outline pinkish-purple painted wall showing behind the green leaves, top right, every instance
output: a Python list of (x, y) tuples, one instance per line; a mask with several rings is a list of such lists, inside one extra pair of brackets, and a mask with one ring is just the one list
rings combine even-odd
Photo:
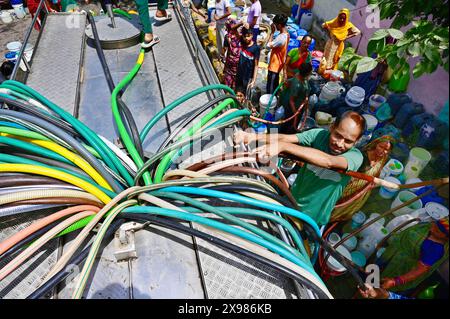
[[(360, 41), (358, 52), (362, 55), (367, 53), (367, 43), (372, 34), (377, 31), (377, 29), (369, 29), (367, 27), (366, 20), (369, 14), (366, 13), (366, 5), (367, 0), (358, 0), (357, 10), (353, 11), (351, 16), (351, 21), (362, 32), (361, 39), (356, 37), (351, 39), (351, 43), (356, 48)], [(390, 21), (381, 21), (380, 27), (389, 28)], [(407, 30), (407, 28), (405, 29)], [(414, 79), (411, 73), (408, 93), (413, 97), (414, 101), (422, 103), (429, 113), (436, 115), (449, 99), (449, 74), (444, 69), (439, 68), (433, 74), (426, 74), (419, 79)]]

